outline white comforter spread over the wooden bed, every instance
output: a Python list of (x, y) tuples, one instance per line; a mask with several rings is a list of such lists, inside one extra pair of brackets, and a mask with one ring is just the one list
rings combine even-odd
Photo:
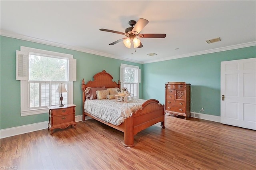
[(127, 103), (116, 102), (115, 99), (86, 100), (84, 111), (113, 125), (120, 125), (124, 119), (130, 117), (133, 112), (140, 109), (146, 100), (134, 99)]

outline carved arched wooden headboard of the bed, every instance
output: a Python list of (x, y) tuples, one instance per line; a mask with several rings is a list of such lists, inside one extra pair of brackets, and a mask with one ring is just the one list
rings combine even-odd
[(103, 87), (106, 88), (114, 88), (118, 87), (120, 89), (120, 81), (118, 80), (118, 83), (116, 81), (113, 81), (112, 75), (107, 73), (105, 70), (102, 72), (99, 72), (93, 76), (93, 81), (88, 81), (86, 84), (84, 83), (84, 79), (82, 79), (82, 91), (83, 91), (83, 102), (85, 101), (85, 89), (87, 87)]

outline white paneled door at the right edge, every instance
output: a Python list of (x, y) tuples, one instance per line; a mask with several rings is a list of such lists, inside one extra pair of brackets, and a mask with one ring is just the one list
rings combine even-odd
[(220, 64), (220, 123), (256, 130), (256, 58)]

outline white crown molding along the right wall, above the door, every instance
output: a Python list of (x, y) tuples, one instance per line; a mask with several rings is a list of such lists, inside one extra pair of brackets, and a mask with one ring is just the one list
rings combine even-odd
[(227, 47), (220, 47), (220, 48), (209, 49), (209, 50), (205, 50), (205, 51), (198, 51), (198, 52), (195, 52), (195, 53), (187, 53), (187, 54), (183, 54), (183, 55), (176, 55), (176, 56), (172, 56), (172, 57), (165, 57), (165, 58), (157, 59), (157, 60), (144, 61), (142, 63), (143, 64), (155, 63), (155, 62), (166, 61), (166, 60), (170, 60), (170, 59), (192, 57), (192, 56), (196, 56), (196, 55), (216, 53), (216, 52), (220, 52), (220, 51), (228, 51), (228, 50), (231, 50), (231, 49), (239, 49), (239, 48), (244, 48), (244, 47), (252, 47), (252, 46), (255, 46), (255, 45), (256, 45), (256, 42), (241, 43), (241, 44), (237, 44), (237, 45), (230, 45), (230, 46), (227, 46)]

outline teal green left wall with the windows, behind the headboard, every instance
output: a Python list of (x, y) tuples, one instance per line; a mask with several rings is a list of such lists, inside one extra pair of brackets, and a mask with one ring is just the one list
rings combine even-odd
[[(77, 59), (77, 81), (74, 82), (74, 104), (76, 105), (76, 115), (82, 114), (82, 78), (87, 82), (92, 80), (94, 74), (106, 70), (114, 77), (113, 80), (118, 82), (121, 63), (142, 67), (142, 64), (138, 63), (18, 40), (15, 38), (8, 38), (5, 36), (0, 36), (0, 45), (0, 129), (48, 121), (47, 113), (23, 117), (20, 116), (20, 81), (16, 80), (16, 50), (20, 50), (20, 46), (74, 55), (74, 58)], [(140, 86), (140, 96), (142, 96), (142, 86)]]

